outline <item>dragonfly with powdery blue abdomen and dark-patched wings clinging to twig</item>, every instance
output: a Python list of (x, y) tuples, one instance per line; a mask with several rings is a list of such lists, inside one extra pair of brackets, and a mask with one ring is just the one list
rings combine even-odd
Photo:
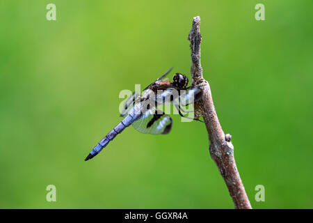
[[(120, 111), (120, 116), (124, 119), (99, 141), (85, 158), (85, 161), (99, 154), (110, 141), (125, 130), (125, 128), (129, 127), (129, 125), (132, 125), (138, 132), (145, 134), (168, 134), (172, 129), (172, 118), (159, 110), (158, 105), (173, 102), (180, 116), (191, 118), (182, 114), (182, 112), (185, 111), (182, 109), (181, 105), (190, 105), (192, 102), (200, 100), (202, 90), (196, 87), (187, 87), (188, 78), (186, 75), (182, 75), (179, 72), (172, 77), (172, 82), (170, 82), (166, 76), (171, 70), (172, 68), (149, 84), (143, 90), (143, 93), (135, 91), (127, 98), (122, 107), (122, 111)], [(182, 91), (183, 93), (181, 93)], [(181, 97), (183, 97), (184, 103), (182, 103)], [(179, 98), (178, 102), (177, 98)], [(204, 122), (198, 118), (191, 119)]]

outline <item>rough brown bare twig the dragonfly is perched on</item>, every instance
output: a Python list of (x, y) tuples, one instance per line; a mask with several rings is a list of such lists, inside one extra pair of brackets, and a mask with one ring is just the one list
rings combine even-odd
[(232, 146), (231, 135), (224, 134), (218, 121), (214, 103), (212, 100), (209, 83), (202, 77), (200, 63), (200, 17), (193, 18), (193, 25), (188, 35), (191, 49), (191, 77), (192, 85), (203, 90), (202, 100), (195, 103), (195, 116), (203, 116), (209, 135), (209, 152), (216, 163), (220, 175), (225, 180), (230, 196), (234, 201), (234, 207), (239, 209), (250, 209), (250, 201), (239, 176), (234, 160), (234, 146)]

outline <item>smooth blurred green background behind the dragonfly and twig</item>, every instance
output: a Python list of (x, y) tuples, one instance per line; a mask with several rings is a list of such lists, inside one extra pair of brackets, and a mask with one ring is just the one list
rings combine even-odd
[[(56, 21), (46, 20), (47, 3)], [(266, 21), (255, 20), (264, 3)], [(128, 128), (122, 89), (202, 67), (253, 208), (313, 208), (312, 0), (0, 1), (0, 208), (233, 208), (204, 124)], [(46, 201), (56, 185), (56, 202)], [(265, 201), (255, 201), (264, 185)]]

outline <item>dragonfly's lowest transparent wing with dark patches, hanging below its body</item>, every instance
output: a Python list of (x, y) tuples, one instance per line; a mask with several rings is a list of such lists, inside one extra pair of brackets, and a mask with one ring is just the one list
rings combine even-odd
[(160, 110), (150, 109), (132, 125), (141, 133), (168, 134), (172, 129), (172, 118)]

